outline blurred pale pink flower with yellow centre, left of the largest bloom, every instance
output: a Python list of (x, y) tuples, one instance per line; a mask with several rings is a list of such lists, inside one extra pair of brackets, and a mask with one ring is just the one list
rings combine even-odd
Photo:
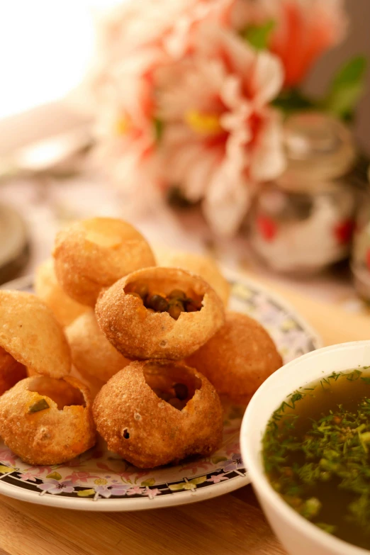
[(159, 182), (152, 71), (162, 52), (142, 49), (109, 67), (95, 83), (97, 159), (123, 193), (155, 194)]

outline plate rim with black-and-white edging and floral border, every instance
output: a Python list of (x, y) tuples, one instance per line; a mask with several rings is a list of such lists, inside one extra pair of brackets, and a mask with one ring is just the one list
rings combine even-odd
[[(304, 332), (310, 345), (305, 352), (323, 346), (318, 333), (284, 298), (270, 291), (269, 288), (261, 286), (257, 281), (241, 276), (237, 271), (224, 269), (224, 274), (232, 284), (233, 298), (237, 301), (248, 305), (252, 302), (248, 298), (249, 295), (250, 298), (258, 295), (266, 298), (267, 304), (270, 303), (271, 307), (280, 310), (291, 323), (296, 325), (297, 330)], [(30, 290), (32, 284), (32, 276), (26, 276), (4, 284), (0, 288)], [(253, 316), (253, 313), (251, 315)], [(176, 481), (153, 484), (151, 479), (148, 479), (141, 482), (139, 486), (137, 483), (108, 483), (104, 478), (97, 478), (94, 481), (94, 487), (91, 487), (91, 485), (78, 484), (78, 479), (77, 482), (74, 481), (74, 477), (78, 478), (79, 474), (84, 474), (83, 472), (72, 472), (71, 476), (68, 476), (69, 479), (64, 480), (57, 468), (50, 468), (46, 477), (38, 478), (37, 473), (29, 473), (30, 476), (28, 476), (27, 471), (17, 467), (16, 463), (9, 463), (9, 459), (4, 460), (2, 453), (7, 448), (1, 451), (1, 447), (5, 447), (4, 444), (0, 443), (0, 494), (59, 508), (97, 511), (164, 508), (211, 499), (250, 483), (240, 452), (236, 452), (237, 450), (230, 454), (229, 460), (227, 456), (219, 457), (220, 463), (217, 468), (210, 471), (203, 470), (201, 473), (195, 473), (187, 478), (181, 477)], [(218, 457), (216, 456), (215, 459)], [(25, 479), (26, 475), (28, 477)], [(98, 500), (99, 503), (96, 503)]]

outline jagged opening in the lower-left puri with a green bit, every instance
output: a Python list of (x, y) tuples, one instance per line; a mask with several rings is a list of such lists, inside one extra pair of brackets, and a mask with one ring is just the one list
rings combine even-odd
[(37, 376), (30, 382), (28, 391), (50, 398), (57, 403), (59, 410), (71, 405), (86, 406), (81, 391), (64, 380), (48, 378), (47, 376)]

